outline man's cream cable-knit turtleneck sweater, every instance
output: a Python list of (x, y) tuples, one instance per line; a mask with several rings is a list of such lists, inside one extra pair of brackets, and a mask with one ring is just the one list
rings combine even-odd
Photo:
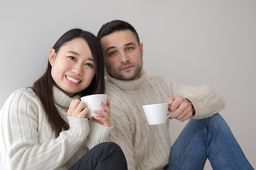
[(164, 103), (168, 97), (183, 96), (193, 104), (196, 115), (206, 118), (224, 108), (222, 96), (209, 86), (183, 86), (166, 77), (146, 77), (122, 81), (105, 73), (110, 97), (112, 125), (107, 140), (116, 142), (124, 151), (129, 169), (163, 169), (169, 164), (171, 141), (169, 123), (149, 125), (142, 105)]

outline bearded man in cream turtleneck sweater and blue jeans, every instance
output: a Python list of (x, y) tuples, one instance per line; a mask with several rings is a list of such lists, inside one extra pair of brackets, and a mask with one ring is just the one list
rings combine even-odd
[[(129, 169), (252, 169), (218, 114), (223, 97), (210, 86), (190, 87), (166, 77), (147, 77), (143, 45), (127, 22), (111, 21), (98, 35), (105, 57), (107, 94), (114, 128), (108, 140), (124, 151)], [(191, 119), (171, 146), (169, 122), (148, 125), (142, 106), (169, 103), (169, 117)]]

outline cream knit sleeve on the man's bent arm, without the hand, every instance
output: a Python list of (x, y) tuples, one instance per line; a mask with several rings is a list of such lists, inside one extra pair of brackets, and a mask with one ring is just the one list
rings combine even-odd
[(186, 86), (166, 78), (165, 81), (170, 97), (182, 96), (191, 101), (196, 111), (194, 119), (207, 118), (225, 107), (223, 96), (210, 86)]

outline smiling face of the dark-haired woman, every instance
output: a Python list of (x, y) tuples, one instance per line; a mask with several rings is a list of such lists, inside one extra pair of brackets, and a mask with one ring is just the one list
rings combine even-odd
[(51, 49), (49, 61), (55, 84), (70, 97), (86, 89), (95, 76), (95, 60), (87, 42), (82, 38), (65, 42), (58, 54)]

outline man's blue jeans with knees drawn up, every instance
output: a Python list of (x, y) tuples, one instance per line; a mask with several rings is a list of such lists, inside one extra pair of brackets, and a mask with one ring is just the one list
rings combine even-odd
[(218, 113), (189, 120), (171, 147), (170, 161), (164, 169), (203, 169), (207, 158), (213, 169), (253, 169)]

